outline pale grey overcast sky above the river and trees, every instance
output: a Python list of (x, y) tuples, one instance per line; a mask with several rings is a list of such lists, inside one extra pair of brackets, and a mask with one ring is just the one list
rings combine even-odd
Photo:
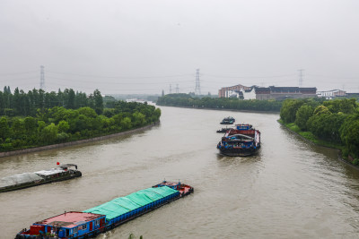
[(359, 92), (357, 0), (1, 0), (0, 90)]

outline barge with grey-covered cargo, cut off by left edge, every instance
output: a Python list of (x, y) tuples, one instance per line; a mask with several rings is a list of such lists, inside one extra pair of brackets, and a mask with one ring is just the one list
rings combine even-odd
[(81, 175), (82, 173), (77, 170), (76, 165), (64, 164), (34, 173), (6, 176), (0, 179), (0, 192), (9, 192), (41, 184), (50, 184), (79, 177)]

